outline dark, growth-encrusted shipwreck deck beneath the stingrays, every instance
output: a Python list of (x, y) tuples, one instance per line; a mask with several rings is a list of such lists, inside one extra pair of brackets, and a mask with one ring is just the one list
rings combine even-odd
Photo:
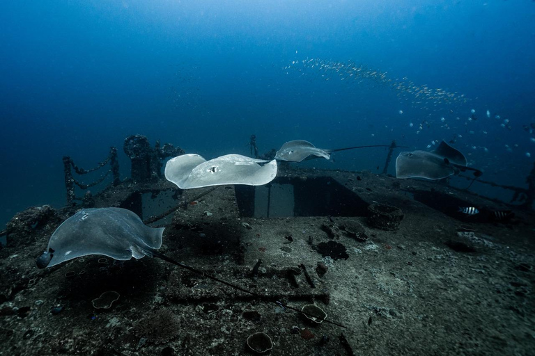
[[(532, 355), (532, 213), (506, 221), (485, 211), (456, 215), (458, 202), (504, 207), (369, 172), (357, 179), (300, 170), (277, 179), (297, 182), (296, 199), (300, 181), (316, 181), (355, 201), (323, 216), (254, 218), (243, 214), (234, 186), (184, 191), (160, 250), (261, 298), (150, 257), (86, 256), (39, 270), (36, 257), (76, 208), (12, 220), (0, 250), (0, 355), (248, 355), (256, 332), (271, 338), (270, 355)], [(112, 187), (95, 196), (96, 207), (124, 204), (137, 188)], [(318, 204), (319, 191), (308, 194), (295, 211)], [(370, 204), (401, 209), (398, 228), (370, 225)], [(314, 304), (327, 321), (277, 301), (299, 310)]]

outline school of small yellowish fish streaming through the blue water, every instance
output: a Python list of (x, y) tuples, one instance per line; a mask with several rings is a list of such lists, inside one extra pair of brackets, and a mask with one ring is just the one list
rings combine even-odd
[[(459, 131), (467, 133), (468, 136), (465, 138), (465, 141), (470, 140), (470, 137), (487, 136), (487, 129), (481, 128), (483, 125), (483, 127), (497, 126), (507, 131), (513, 129), (509, 118), (502, 119), (501, 115), (498, 114), (494, 114), (493, 116), (490, 108), (483, 109), (482, 112), (484, 114), (481, 115), (481, 118), (484, 118), (484, 120), (481, 120), (485, 122), (481, 122), (478, 117), (478, 112), (481, 112), (479, 109), (470, 108), (470, 111), (467, 112), (466, 106), (469, 105), (472, 100), (467, 98), (464, 94), (460, 94), (459, 92), (449, 92), (442, 88), (430, 88), (425, 84), (419, 85), (410, 81), (406, 76), (401, 79), (393, 79), (387, 72), (374, 70), (355, 62), (346, 63), (334, 60), (323, 60), (320, 58), (307, 58), (304, 60), (293, 60), (283, 69), (286, 71), (286, 74), (289, 74), (290, 71), (297, 71), (302, 76), (316, 75), (325, 81), (334, 79), (346, 83), (372, 81), (374, 83), (388, 86), (397, 92), (396, 95), (403, 105), (408, 104), (412, 109), (417, 108), (424, 111), (426, 119), (417, 120), (417, 122), (414, 122), (414, 120), (407, 122), (408, 127), (414, 129), (414, 133), (419, 134), (426, 129), (437, 127), (440, 128), (440, 130), (451, 130), (456, 132), (453, 134), (453, 138), (449, 140), (449, 143), (451, 144), (454, 144), (458, 139), (463, 138), (463, 136), (458, 133)], [(398, 109), (397, 113), (401, 118), (407, 115), (403, 108)], [(447, 115), (444, 115), (444, 113), (447, 113)], [(479, 124), (475, 124), (476, 122)], [(529, 143), (535, 143), (535, 123), (523, 125), (522, 129), (529, 134)], [(393, 131), (393, 129), (390, 129), (390, 131)], [(436, 131), (433, 131), (431, 134), (437, 135)], [(372, 133), (371, 136), (375, 136), (375, 134)], [(440, 142), (440, 140), (442, 140), (442, 138), (435, 137), (426, 147), (430, 149), (435, 143)], [(466, 142), (465, 145), (467, 148), (472, 149), (472, 151), (489, 152), (486, 145), (474, 145)], [(526, 145), (522, 145), (522, 147), (526, 147)], [(518, 143), (504, 143), (503, 147), (505, 152), (514, 153), (519, 151), (520, 145)], [(535, 149), (535, 147), (533, 147), (533, 149)], [(468, 155), (470, 156), (470, 153)], [(530, 158), (532, 154), (527, 150), (522, 153), (522, 156)]]

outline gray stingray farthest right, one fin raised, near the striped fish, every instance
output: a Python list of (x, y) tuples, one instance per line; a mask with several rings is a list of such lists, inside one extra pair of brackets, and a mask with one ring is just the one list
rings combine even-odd
[(474, 177), (483, 174), (481, 170), (467, 167), (465, 155), (444, 141), (431, 152), (401, 152), (396, 159), (396, 178), (402, 179), (442, 179), (466, 170), (474, 171)]

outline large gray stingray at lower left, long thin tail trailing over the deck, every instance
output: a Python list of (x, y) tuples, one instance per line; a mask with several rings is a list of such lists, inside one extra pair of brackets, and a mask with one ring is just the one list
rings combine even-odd
[[(249, 293), (256, 298), (260, 294), (244, 289), (236, 284), (220, 280), (217, 277), (175, 261), (157, 250), (162, 246), (164, 228), (144, 225), (143, 221), (132, 211), (121, 208), (83, 209), (65, 220), (50, 237), (47, 250), (38, 257), (38, 268), (52, 267), (62, 262), (88, 254), (103, 254), (118, 260), (144, 256), (159, 257), (171, 264), (185, 268), (210, 280), (230, 286), (233, 289)], [(300, 312), (283, 302), (270, 300), (277, 305)], [(345, 327), (333, 321), (334, 325)]]

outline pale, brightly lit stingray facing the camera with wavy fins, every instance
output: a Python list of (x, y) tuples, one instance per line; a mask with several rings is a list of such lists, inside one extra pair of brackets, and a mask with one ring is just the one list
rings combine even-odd
[[(265, 163), (259, 165), (258, 163)], [(182, 154), (167, 161), (165, 177), (181, 189), (245, 184), (261, 186), (277, 176), (277, 161), (227, 154), (206, 161), (199, 154)]]

